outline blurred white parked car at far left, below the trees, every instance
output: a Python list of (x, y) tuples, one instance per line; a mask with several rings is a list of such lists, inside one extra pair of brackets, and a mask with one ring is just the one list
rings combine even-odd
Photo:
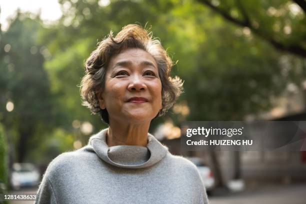
[(39, 183), (38, 169), (31, 163), (14, 163), (11, 173), (11, 186), (13, 189), (20, 187), (36, 186)]

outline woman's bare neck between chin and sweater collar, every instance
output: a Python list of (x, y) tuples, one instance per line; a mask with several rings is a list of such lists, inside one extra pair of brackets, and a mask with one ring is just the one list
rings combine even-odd
[(126, 122), (109, 121), (106, 143), (108, 146), (146, 146), (149, 125), (149, 122), (141, 124), (130, 124)]

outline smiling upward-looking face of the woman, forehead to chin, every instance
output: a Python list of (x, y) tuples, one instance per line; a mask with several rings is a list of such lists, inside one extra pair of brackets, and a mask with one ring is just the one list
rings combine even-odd
[(139, 48), (128, 48), (111, 57), (105, 89), (98, 94), (109, 122), (149, 122), (161, 109), (161, 82), (155, 59)]

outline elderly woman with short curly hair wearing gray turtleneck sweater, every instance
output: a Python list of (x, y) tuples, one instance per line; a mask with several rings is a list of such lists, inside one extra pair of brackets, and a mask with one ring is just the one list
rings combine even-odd
[(50, 162), (35, 203), (208, 203), (196, 166), (148, 133), (182, 91), (171, 66), (160, 42), (135, 24), (98, 43), (80, 92), (108, 128)]

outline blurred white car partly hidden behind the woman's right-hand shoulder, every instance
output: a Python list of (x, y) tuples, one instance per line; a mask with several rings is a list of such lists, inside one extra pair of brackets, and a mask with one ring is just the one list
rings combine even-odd
[(199, 173), (200, 173), (200, 176), (202, 177), (202, 181), (203, 181), (203, 184), (206, 188), (206, 191), (208, 193), (211, 193), (213, 188), (214, 188), (214, 176), (213, 176), (213, 172), (212, 170), (210, 169), (209, 166), (207, 166), (201, 158), (199, 157), (186, 157), (187, 159), (189, 159), (190, 161), (192, 161)]

